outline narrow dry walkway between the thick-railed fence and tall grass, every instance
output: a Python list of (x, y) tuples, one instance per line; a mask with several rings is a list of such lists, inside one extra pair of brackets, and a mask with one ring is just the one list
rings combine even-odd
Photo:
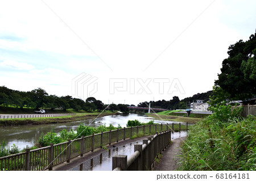
[(177, 155), (180, 153), (180, 146), (185, 140), (185, 137), (176, 138), (172, 140), (172, 144), (169, 145), (166, 150), (163, 151), (162, 159), (160, 163), (154, 163), (154, 170), (157, 171), (171, 171), (177, 170), (177, 163), (179, 162), (179, 157)]

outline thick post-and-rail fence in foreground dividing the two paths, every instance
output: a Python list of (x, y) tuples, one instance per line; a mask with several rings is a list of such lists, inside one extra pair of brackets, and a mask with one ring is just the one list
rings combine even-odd
[(127, 155), (112, 157), (112, 170), (151, 170), (154, 159), (170, 144), (170, 141), (171, 130), (156, 133), (147, 140), (143, 140), (143, 144), (134, 145), (134, 153), (129, 158)]

